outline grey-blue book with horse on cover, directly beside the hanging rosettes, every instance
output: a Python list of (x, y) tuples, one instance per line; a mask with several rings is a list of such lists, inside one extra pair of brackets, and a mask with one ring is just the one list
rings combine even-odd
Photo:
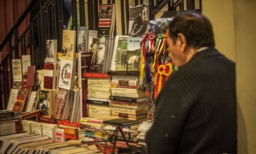
[(129, 37), (126, 56), (126, 71), (140, 71), (140, 41), (142, 38)]

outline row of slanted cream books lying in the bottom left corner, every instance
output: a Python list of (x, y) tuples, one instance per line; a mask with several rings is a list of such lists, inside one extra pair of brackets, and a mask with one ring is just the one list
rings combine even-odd
[(21, 132), (0, 136), (0, 153), (97, 153), (95, 145), (53, 142), (48, 136)]

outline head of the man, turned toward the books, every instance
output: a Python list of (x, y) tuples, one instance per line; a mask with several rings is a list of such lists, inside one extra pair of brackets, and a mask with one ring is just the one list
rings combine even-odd
[(215, 47), (210, 21), (194, 11), (176, 15), (169, 24), (168, 46), (177, 67), (189, 62), (201, 47)]

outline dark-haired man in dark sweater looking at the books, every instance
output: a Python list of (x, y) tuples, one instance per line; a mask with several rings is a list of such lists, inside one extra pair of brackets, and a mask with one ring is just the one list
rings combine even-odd
[(214, 48), (211, 23), (203, 15), (178, 14), (168, 34), (169, 55), (178, 70), (156, 100), (147, 152), (236, 153), (234, 63)]

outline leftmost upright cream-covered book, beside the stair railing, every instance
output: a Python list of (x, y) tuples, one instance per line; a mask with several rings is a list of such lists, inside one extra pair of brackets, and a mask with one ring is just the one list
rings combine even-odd
[(21, 59), (12, 59), (12, 76), (14, 81), (22, 81), (22, 63)]

